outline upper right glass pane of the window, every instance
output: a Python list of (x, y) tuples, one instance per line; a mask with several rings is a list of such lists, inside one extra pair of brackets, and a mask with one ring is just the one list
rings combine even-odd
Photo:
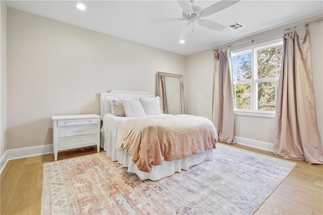
[(276, 78), (277, 47), (257, 51), (258, 78)]

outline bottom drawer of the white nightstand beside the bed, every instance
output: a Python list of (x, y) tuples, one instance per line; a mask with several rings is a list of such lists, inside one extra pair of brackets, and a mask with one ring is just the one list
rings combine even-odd
[(97, 135), (86, 135), (86, 136), (79, 136), (79, 137), (67, 137), (58, 139), (59, 148), (67, 148), (71, 146), (82, 146), (86, 144), (95, 144), (97, 142)]

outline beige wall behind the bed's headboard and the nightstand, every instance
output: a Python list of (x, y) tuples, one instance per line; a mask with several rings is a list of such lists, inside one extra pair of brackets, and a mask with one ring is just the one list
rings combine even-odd
[(52, 115), (99, 114), (99, 92), (155, 94), (185, 57), (8, 8), (8, 149), (52, 143)]

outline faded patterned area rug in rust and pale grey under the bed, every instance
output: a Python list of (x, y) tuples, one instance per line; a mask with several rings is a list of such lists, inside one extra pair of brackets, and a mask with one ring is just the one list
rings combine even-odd
[(41, 214), (252, 214), (296, 165), (217, 147), (212, 161), (158, 181), (104, 152), (44, 164)]

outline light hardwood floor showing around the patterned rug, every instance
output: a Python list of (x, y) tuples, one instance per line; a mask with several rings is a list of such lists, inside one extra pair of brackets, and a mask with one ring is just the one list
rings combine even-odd
[[(269, 156), (263, 151), (232, 145)], [(96, 149), (59, 152), (58, 159), (96, 153)], [(53, 162), (53, 154), (10, 160), (1, 174), (1, 214), (39, 214), (42, 165)], [(323, 166), (294, 161), (297, 166), (255, 214), (323, 214)]]

